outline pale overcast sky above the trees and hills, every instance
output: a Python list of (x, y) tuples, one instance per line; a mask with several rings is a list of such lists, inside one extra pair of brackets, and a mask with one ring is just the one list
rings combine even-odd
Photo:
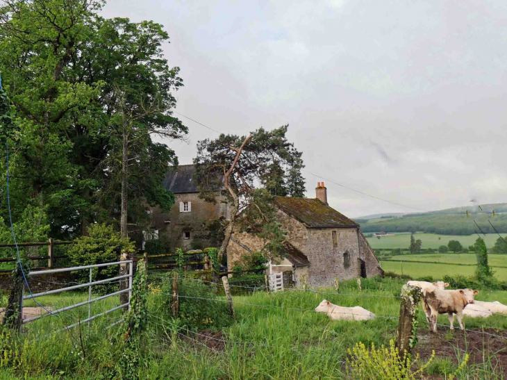
[(507, 201), (507, 1), (109, 0), (102, 13), (169, 33), (181, 164), (217, 137), (181, 115), (238, 135), (289, 124), (307, 197), (324, 181), (349, 217)]

